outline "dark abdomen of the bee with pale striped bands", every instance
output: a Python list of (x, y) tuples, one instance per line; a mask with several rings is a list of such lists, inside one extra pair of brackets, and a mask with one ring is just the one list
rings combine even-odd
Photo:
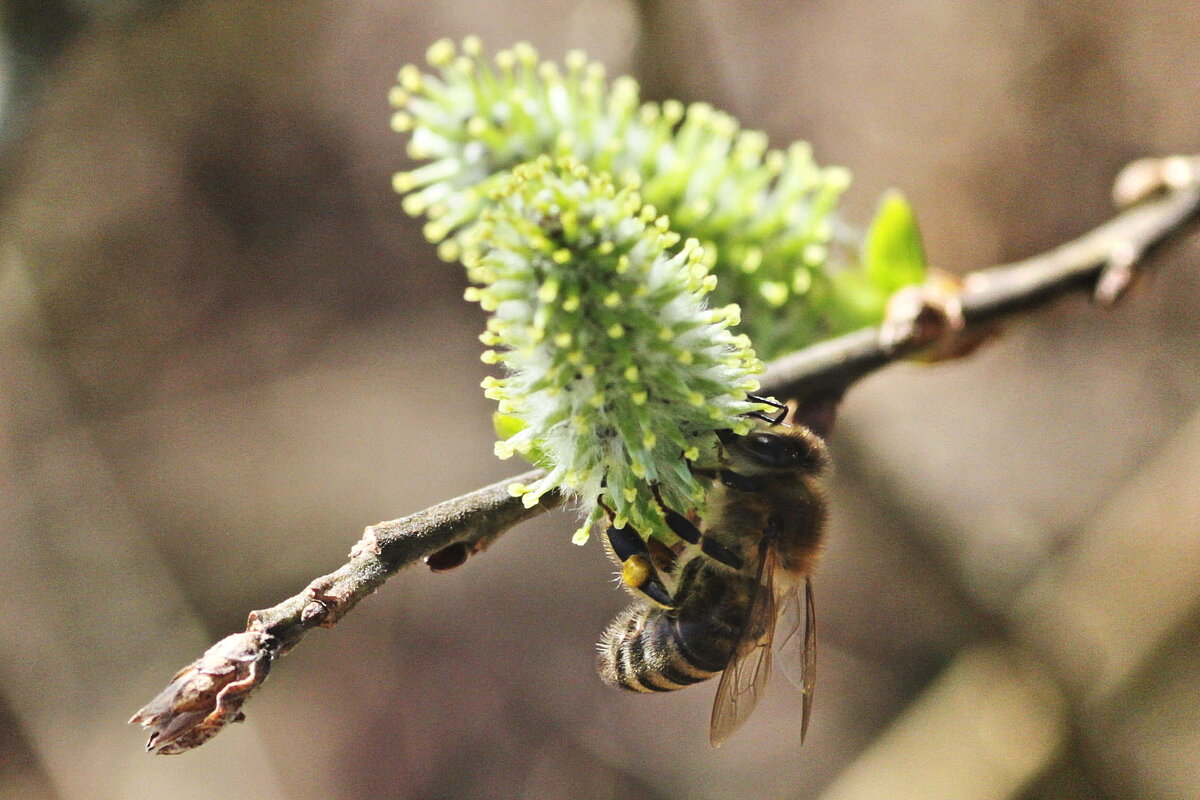
[(667, 692), (725, 669), (750, 607), (754, 579), (697, 555), (680, 570), (673, 610), (635, 603), (600, 640), (600, 676), (636, 692)]

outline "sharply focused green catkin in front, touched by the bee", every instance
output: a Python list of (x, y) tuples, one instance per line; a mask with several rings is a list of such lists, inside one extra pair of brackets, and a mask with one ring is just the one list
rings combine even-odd
[(762, 365), (730, 331), (736, 312), (706, 309), (703, 248), (676, 246), (632, 187), (571, 160), (517, 167), (492, 201), (462, 241), (481, 284), (467, 297), (500, 343), (485, 360), (505, 368), (485, 390), (523, 425), (497, 455), (536, 449), (548, 467), (514, 493), (533, 505), (564, 488), (589, 523), (602, 498), (618, 524), (670, 539), (650, 483), (692, 507), (702, 492), (682, 453), (712, 453), (715, 431), (745, 432), (762, 408), (746, 397)]

